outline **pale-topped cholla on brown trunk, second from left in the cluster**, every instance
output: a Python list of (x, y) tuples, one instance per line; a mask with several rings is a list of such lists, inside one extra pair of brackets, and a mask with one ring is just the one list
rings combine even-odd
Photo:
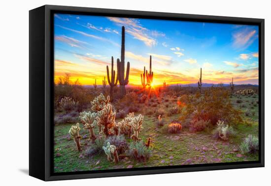
[(83, 121), (83, 123), (85, 124), (84, 129), (89, 130), (90, 139), (92, 140), (92, 142), (95, 142), (95, 139), (96, 139), (96, 135), (94, 132), (94, 127), (97, 125), (96, 117), (97, 117), (97, 113), (91, 113), (91, 112), (85, 113), (83, 117), (79, 116), (81, 121)]

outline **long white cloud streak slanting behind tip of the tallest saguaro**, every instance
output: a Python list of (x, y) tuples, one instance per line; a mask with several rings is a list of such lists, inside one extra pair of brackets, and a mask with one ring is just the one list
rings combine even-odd
[(125, 30), (128, 34), (134, 36), (135, 39), (143, 41), (145, 45), (149, 47), (157, 45), (157, 41), (147, 34), (148, 30), (142, 27), (137, 19), (117, 17), (108, 17), (108, 19), (120, 26), (125, 26)]

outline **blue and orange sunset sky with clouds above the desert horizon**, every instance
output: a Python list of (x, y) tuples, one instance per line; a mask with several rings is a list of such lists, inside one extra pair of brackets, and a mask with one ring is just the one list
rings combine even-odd
[[(82, 85), (102, 85), (111, 56), (120, 58), (125, 26), (129, 84), (141, 85), (152, 55), (154, 84), (258, 84), (258, 27), (216, 23), (55, 14), (55, 79), (69, 73)], [(110, 72), (111, 73), (111, 72)], [(106, 77), (107, 78), (107, 77)], [(106, 79), (107, 80), (107, 79)]]

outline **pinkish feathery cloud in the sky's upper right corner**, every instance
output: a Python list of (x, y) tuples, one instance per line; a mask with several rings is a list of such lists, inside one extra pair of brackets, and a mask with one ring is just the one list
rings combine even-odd
[(246, 49), (257, 37), (258, 35), (256, 30), (248, 28), (242, 29), (241, 31), (237, 31), (233, 34), (233, 46), (239, 49)]

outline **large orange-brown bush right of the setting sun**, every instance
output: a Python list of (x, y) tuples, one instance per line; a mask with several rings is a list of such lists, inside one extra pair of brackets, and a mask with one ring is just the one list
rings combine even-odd
[(218, 120), (229, 124), (242, 122), (242, 111), (234, 108), (228, 91), (221, 87), (212, 87), (206, 90), (203, 96), (200, 93), (183, 95), (177, 103), (183, 111), (180, 118), (182, 121), (188, 118), (196, 121), (209, 120), (213, 125)]

